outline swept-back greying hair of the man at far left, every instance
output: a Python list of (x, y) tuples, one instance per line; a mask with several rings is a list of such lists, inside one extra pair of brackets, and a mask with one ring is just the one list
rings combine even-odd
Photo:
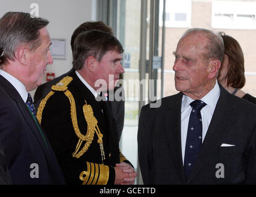
[(15, 50), (28, 44), (35, 50), (41, 44), (39, 30), (48, 25), (48, 20), (31, 17), (25, 12), (7, 12), (0, 18), (0, 47), (4, 49), (2, 63), (14, 60)]

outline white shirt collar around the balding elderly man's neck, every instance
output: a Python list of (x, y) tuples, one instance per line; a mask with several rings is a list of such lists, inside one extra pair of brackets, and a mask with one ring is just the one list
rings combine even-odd
[[(220, 86), (216, 80), (215, 86), (213, 87), (213, 89), (210, 90), (210, 92), (208, 92), (207, 95), (205, 95), (202, 99), (203, 102), (207, 103), (207, 105), (209, 105), (210, 107), (215, 107), (216, 104), (216, 100), (218, 100), (220, 96)], [(187, 108), (188, 105), (193, 102), (194, 99), (190, 98), (187, 95), (183, 95), (182, 97), (182, 108)]]

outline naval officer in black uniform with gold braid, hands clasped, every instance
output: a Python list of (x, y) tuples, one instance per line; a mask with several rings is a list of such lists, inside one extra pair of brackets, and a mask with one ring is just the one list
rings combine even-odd
[(136, 172), (119, 150), (109, 102), (98, 99), (101, 90), (114, 89), (124, 73), (122, 52), (120, 42), (109, 33), (79, 34), (74, 71), (53, 86), (38, 107), (36, 118), (67, 183), (134, 184)]

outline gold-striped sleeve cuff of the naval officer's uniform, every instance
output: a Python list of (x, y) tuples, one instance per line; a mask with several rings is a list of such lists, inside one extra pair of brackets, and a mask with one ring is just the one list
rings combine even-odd
[(87, 171), (82, 171), (79, 178), (83, 181), (82, 185), (106, 185), (109, 179), (109, 167), (87, 162)]

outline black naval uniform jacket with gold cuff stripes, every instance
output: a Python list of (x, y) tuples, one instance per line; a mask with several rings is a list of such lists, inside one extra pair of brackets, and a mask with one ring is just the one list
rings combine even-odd
[[(74, 131), (70, 116), (70, 101), (64, 91), (54, 90), (54, 94), (46, 101), (43, 111), (41, 111), (41, 103), (44, 102), (42, 100), (36, 116), (38, 117), (38, 114), (41, 113), (41, 126), (53, 147), (67, 184), (113, 184), (115, 179), (113, 167), (115, 164), (122, 161), (129, 163), (129, 161), (119, 151), (116, 126), (111, 110), (109, 110), (109, 103), (101, 102), (105, 106), (101, 107), (100, 102), (95, 100), (92, 92), (80, 81), (75, 71), (72, 71), (69, 76), (72, 81), (67, 85), (67, 89), (75, 100), (77, 124), (81, 134), (87, 134), (87, 121), (85, 121), (83, 114), (85, 101), (87, 105), (91, 105), (93, 115), (98, 121), (98, 128), (103, 134), (104, 165), (102, 165), (96, 132), (88, 150), (80, 158), (72, 156), (79, 142), (79, 137)], [(84, 145), (85, 142), (82, 143), (80, 149)]]

